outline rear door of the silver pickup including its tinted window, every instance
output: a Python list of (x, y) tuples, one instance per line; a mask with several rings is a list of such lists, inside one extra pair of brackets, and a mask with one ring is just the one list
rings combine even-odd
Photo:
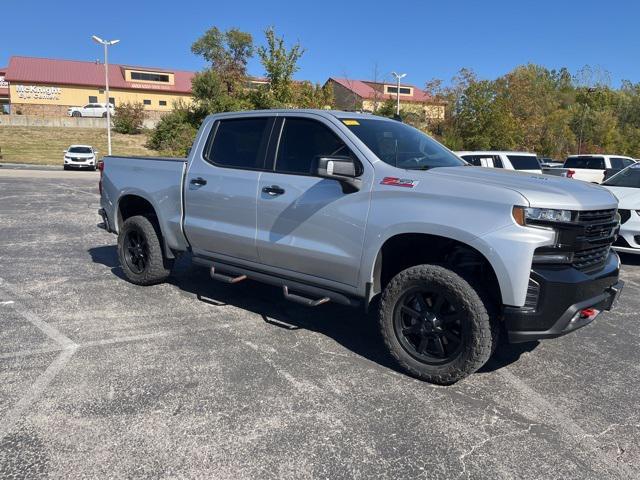
[(217, 121), (185, 178), (185, 233), (193, 252), (256, 261), (258, 179), (272, 116)]

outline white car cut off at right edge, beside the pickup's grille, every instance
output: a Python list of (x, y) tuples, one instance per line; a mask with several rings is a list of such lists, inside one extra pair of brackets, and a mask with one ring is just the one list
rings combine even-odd
[(613, 248), (640, 254), (640, 163), (618, 172), (602, 186), (618, 197), (620, 233)]

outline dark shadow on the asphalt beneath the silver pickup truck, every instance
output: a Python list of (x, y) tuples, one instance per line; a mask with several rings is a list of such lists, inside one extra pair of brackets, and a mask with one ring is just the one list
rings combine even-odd
[[(94, 263), (109, 267), (115, 276), (126, 281), (115, 245), (94, 247), (88, 252)], [(363, 309), (331, 303), (316, 308), (303, 307), (286, 301), (281, 289), (251, 280), (236, 285), (219, 283), (211, 280), (207, 269), (193, 265), (189, 255), (176, 261), (167, 283), (192, 294), (194, 301), (204, 302), (212, 309), (232, 305), (260, 315), (264, 322), (274, 328), (317, 332), (332, 338), (356, 355), (401, 372), (385, 351), (378, 332), (377, 317), (373, 312), (367, 314)], [(479, 372), (492, 372), (507, 366), (536, 345), (503, 344)]]

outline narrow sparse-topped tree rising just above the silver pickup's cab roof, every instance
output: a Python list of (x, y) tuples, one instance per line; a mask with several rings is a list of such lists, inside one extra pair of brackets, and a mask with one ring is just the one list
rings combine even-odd
[(294, 100), (293, 74), (298, 71), (298, 60), (304, 49), (296, 43), (287, 49), (284, 37), (277, 37), (273, 27), (264, 32), (267, 45), (258, 47), (258, 56), (269, 79), (268, 90), (275, 103), (290, 106)]

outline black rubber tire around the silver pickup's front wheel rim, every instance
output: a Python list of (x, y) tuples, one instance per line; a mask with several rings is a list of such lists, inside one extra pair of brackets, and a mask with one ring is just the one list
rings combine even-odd
[[(403, 347), (394, 329), (401, 298), (417, 286), (445, 292), (460, 309), (461, 321), (466, 322), (461, 351), (447, 363), (432, 365), (418, 360)], [(450, 385), (474, 373), (489, 360), (498, 340), (497, 319), (490, 315), (493, 309), (481, 298), (468, 281), (450, 269), (418, 265), (403, 270), (391, 279), (380, 299), (379, 327), (389, 353), (410, 375), (439, 385)]]

